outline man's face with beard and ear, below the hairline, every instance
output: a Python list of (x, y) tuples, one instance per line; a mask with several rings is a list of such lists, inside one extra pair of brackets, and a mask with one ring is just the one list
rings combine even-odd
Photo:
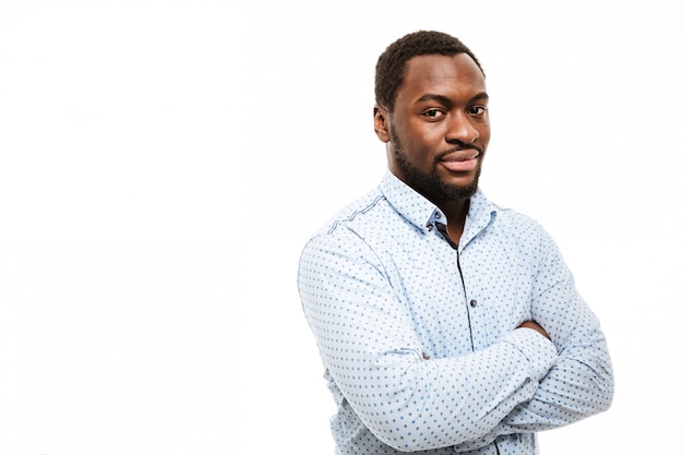
[(491, 135), (488, 99), (468, 55), (410, 59), (394, 111), (375, 107), (390, 170), (435, 204), (470, 197)]

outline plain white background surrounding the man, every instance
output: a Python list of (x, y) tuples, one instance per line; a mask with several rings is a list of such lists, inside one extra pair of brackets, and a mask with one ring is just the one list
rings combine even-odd
[(544, 454), (672, 453), (683, 409), (676, 1), (0, 3), (0, 454), (332, 454), (296, 288), (376, 184), (374, 62), (481, 60), (482, 188), (602, 321), (611, 410)]

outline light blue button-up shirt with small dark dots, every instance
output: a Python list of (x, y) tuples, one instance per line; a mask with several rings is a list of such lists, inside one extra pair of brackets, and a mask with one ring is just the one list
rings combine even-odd
[(481, 192), (457, 248), (444, 225), (387, 172), (303, 249), (337, 454), (534, 454), (535, 432), (611, 405), (604, 336), (548, 234)]

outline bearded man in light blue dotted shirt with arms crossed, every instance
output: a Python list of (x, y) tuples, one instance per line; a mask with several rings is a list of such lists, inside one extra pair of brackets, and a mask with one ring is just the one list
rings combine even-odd
[(299, 268), (336, 453), (534, 454), (535, 432), (611, 405), (599, 322), (543, 229), (478, 189), (490, 125), (474, 53), (409, 34), (380, 57), (375, 96), (388, 171)]

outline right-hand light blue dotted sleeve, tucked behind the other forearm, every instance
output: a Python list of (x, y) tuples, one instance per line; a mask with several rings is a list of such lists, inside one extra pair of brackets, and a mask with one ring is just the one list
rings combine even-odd
[(459, 444), (457, 451), (487, 445), (501, 434), (564, 427), (611, 406), (614, 378), (600, 323), (576, 290), (554, 241), (542, 229), (538, 238), (541, 260), (531, 295), (531, 318), (550, 335), (558, 359), (531, 399), (515, 406), (480, 441)]

